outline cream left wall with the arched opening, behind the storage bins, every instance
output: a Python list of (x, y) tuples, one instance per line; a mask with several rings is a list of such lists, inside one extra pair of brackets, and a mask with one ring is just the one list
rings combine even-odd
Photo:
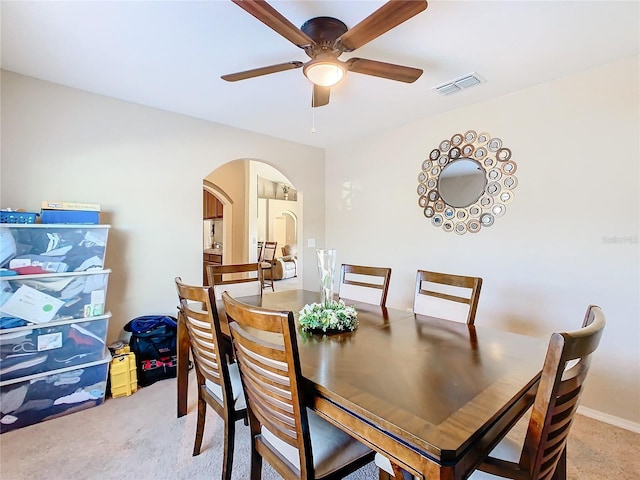
[[(320, 149), (5, 71), (0, 100), (1, 206), (100, 203), (102, 222), (113, 226), (109, 340), (136, 316), (175, 315), (174, 277), (202, 281), (202, 182), (226, 162), (256, 159), (281, 170), (311, 199), (306, 231), (324, 238)], [(311, 266), (304, 282), (313, 289)]]

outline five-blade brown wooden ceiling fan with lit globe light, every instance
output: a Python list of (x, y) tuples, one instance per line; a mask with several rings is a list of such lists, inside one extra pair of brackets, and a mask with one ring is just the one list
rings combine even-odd
[(232, 0), (246, 12), (279, 33), (311, 58), (308, 62), (291, 61), (223, 75), (229, 82), (259, 77), (270, 73), (301, 68), (313, 82), (312, 107), (329, 103), (331, 87), (349, 72), (413, 83), (422, 70), (364, 58), (338, 59), (374, 38), (388, 32), (427, 8), (426, 0), (391, 0), (360, 23), (349, 29), (337, 18), (316, 17), (298, 28), (264, 0)]

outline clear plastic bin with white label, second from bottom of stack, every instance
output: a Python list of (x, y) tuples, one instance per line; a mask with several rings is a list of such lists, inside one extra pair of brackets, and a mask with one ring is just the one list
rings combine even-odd
[(0, 330), (0, 381), (100, 360), (110, 317)]

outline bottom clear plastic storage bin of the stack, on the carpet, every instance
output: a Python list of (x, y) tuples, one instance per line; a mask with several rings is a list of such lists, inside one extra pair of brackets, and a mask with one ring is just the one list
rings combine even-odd
[(0, 382), (0, 433), (102, 405), (111, 354), (102, 359)]

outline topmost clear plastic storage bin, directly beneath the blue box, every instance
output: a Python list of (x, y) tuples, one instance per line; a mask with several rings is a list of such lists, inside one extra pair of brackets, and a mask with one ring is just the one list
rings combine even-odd
[(84, 272), (104, 268), (110, 225), (0, 224), (6, 274)]

